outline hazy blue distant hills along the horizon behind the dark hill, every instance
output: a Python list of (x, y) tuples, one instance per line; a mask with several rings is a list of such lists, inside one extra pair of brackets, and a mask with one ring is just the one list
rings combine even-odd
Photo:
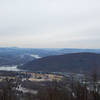
[(42, 57), (81, 52), (100, 54), (100, 49), (2, 47), (0, 48), (0, 66), (20, 65)]

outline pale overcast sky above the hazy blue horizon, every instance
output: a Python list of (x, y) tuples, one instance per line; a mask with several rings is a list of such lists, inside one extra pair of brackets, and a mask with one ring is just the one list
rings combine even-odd
[(0, 0), (0, 46), (100, 48), (100, 0)]

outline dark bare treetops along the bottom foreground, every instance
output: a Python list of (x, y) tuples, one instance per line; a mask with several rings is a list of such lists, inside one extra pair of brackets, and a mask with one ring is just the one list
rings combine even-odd
[(5, 79), (0, 84), (0, 100), (100, 100), (99, 78), (96, 72), (89, 78), (86, 75), (83, 81), (76, 81), (71, 75), (70, 82), (54, 80), (37, 94), (19, 92), (18, 80)]

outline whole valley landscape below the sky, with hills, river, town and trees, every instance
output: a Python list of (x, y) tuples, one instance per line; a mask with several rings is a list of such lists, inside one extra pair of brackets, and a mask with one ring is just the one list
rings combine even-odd
[(0, 100), (100, 98), (99, 50), (0, 50)]

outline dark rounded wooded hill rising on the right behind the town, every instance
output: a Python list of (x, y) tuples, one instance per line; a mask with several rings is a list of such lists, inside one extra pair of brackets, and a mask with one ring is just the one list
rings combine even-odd
[(43, 57), (21, 66), (22, 69), (46, 72), (87, 72), (100, 71), (100, 54), (72, 53)]

